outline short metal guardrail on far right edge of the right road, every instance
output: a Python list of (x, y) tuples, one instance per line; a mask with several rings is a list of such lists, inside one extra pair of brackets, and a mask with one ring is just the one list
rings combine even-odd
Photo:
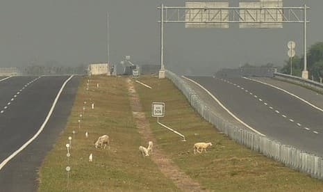
[(289, 74), (282, 74), (279, 72), (274, 73), (274, 77), (276, 79), (281, 79), (281, 80), (288, 81), (291, 83), (297, 83), (302, 86), (307, 86), (307, 87), (313, 88), (314, 90), (318, 90), (320, 92), (323, 91), (323, 84), (316, 82), (316, 81), (312, 81), (309, 79), (303, 79), (301, 77), (296, 77), (296, 76), (292, 76)]

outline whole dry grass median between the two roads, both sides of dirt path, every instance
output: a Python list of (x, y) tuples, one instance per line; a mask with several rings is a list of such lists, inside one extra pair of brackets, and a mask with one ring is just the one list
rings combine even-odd
[[(40, 168), (38, 191), (179, 191), (173, 182), (160, 173), (156, 164), (143, 158), (139, 145), (147, 145), (135, 127), (124, 77), (92, 77), (90, 93), (85, 94), (86, 79), (80, 83), (78, 94), (67, 123)], [(323, 182), (304, 173), (286, 168), (282, 163), (248, 150), (233, 142), (204, 121), (190, 107), (179, 90), (167, 79), (141, 77), (152, 86), (149, 90), (136, 83), (141, 103), (156, 143), (183, 170), (210, 191), (323, 191)], [(94, 88), (100, 83), (100, 88)], [(94, 91), (93, 91), (94, 90)], [(86, 111), (81, 129), (78, 117), (83, 102), (90, 99), (95, 109)], [(180, 131), (187, 141), (167, 131), (151, 118), (151, 102), (165, 102), (166, 116), (160, 122)], [(72, 131), (72, 157), (67, 161), (65, 144)], [(85, 131), (89, 138), (85, 138)], [(110, 150), (94, 148), (98, 136), (108, 134)], [(196, 142), (212, 142), (208, 153), (194, 155)], [(90, 153), (94, 156), (88, 162)], [(154, 155), (154, 154), (153, 154)], [(67, 188), (66, 166), (71, 166)]]

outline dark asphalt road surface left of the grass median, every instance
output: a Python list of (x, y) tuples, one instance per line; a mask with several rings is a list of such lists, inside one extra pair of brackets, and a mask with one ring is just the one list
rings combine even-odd
[[(0, 82), (0, 163), (35, 135), (69, 77), (11, 77)], [(42, 133), (0, 170), (0, 191), (37, 191), (38, 167), (66, 125), (81, 77), (65, 86)]]

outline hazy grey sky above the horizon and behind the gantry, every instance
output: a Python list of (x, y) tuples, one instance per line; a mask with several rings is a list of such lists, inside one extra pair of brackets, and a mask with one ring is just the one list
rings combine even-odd
[[(255, 0), (256, 1), (256, 0)], [(184, 6), (180, 0), (1, 0), (0, 67), (106, 62), (106, 13), (110, 15), (110, 60), (119, 63), (131, 56), (133, 63), (160, 64), (159, 11)], [(230, 0), (231, 6), (238, 6)], [(284, 6), (311, 7), (308, 46), (323, 41), (323, 1), (285, 0)], [(179, 73), (210, 74), (222, 67), (246, 62), (283, 65), (286, 43), (297, 42), (303, 53), (303, 27), (283, 29), (185, 29), (165, 24), (165, 65)]]

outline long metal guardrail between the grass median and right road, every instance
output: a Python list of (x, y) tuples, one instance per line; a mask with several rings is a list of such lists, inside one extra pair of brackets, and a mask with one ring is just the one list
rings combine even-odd
[(211, 111), (206, 103), (197, 95), (181, 77), (173, 72), (165, 71), (165, 75), (183, 92), (191, 106), (218, 130), (232, 138), (234, 141), (249, 147), (251, 150), (265, 154), (276, 161), (280, 161), (290, 168), (308, 173), (312, 177), (323, 179), (323, 159), (315, 154), (298, 150), (290, 145), (283, 145), (279, 141), (260, 136), (247, 129), (241, 129), (230, 122), (220, 118)]

